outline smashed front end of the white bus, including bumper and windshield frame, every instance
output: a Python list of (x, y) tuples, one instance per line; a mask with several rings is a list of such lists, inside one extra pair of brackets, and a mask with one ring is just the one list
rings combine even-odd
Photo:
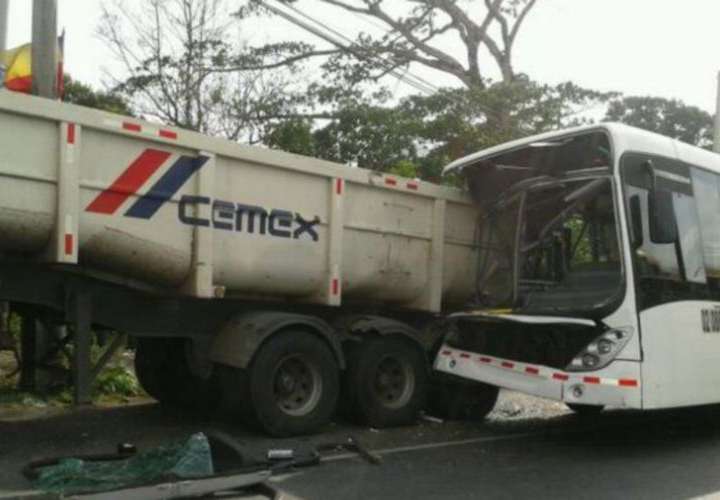
[(475, 301), (450, 317), (436, 369), (578, 411), (641, 407), (613, 130), (546, 134), (446, 168), (482, 216)]

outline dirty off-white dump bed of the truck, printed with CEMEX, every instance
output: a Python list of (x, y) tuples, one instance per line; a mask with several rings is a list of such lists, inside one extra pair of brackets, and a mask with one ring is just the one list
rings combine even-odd
[(0, 247), (164, 293), (439, 311), (472, 294), (458, 190), (0, 92)]

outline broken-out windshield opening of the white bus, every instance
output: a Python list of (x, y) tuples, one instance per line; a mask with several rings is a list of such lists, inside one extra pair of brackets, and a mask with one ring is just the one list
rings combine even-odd
[[(547, 175), (548, 157), (557, 158), (558, 166), (567, 161), (559, 151), (563, 147), (579, 153), (569, 142), (533, 145), (512, 154), (516, 159), (534, 156), (537, 167), (531, 161), (508, 165), (507, 157), (501, 157), (503, 163), (485, 165), (496, 177), (498, 171), (509, 172), (509, 178), (518, 178), (518, 172), (545, 175), (517, 180), (486, 205), (478, 228), (476, 287), (481, 307), (586, 314), (607, 306), (621, 290), (609, 148), (595, 148), (595, 155), (579, 154), (577, 169)], [(481, 174), (474, 175), (477, 183)]]

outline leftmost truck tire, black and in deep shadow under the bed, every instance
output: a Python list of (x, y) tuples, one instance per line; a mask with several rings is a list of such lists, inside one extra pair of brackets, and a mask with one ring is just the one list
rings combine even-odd
[(141, 337), (135, 349), (135, 374), (145, 392), (161, 404), (212, 411), (220, 402), (217, 377), (201, 378), (190, 369), (188, 339)]

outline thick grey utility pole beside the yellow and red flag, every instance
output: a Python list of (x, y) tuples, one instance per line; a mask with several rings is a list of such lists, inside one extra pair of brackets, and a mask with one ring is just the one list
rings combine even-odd
[(33, 0), (33, 94), (57, 98), (57, 0)]

